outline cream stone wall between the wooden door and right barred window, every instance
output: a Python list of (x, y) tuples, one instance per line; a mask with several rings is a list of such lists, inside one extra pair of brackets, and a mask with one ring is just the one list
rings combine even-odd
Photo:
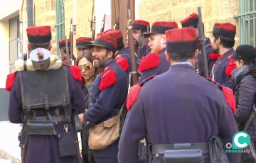
[[(138, 2), (139, 1), (139, 2)], [(205, 31), (213, 29), (214, 23), (233, 23), (237, 26), (235, 47), (239, 45), (239, 21), (233, 18), (238, 14), (237, 0), (137, 0), (139, 19), (149, 21), (176, 21), (181, 28), (180, 21), (191, 13), (198, 13), (201, 6)], [(210, 33), (206, 33), (210, 37)]]

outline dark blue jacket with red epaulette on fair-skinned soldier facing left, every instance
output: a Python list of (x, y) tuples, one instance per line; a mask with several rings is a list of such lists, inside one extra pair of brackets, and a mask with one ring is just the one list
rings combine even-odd
[(142, 59), (143, 61), (139, 64), (139, 72), (142, 74), (138, 83), (152, 75), (163, 74), (169, 69), (170, 63), (166, 60), (165, 51), (166, 48), (162, 49), (159, 57), (156, 57), (156, 54), (150, 54)]

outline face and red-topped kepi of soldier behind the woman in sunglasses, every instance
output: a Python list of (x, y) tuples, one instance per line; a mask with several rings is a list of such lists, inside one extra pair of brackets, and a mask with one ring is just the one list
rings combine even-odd
[(82, 52), (90, 52), (92, 54), (92, 49), (86, 47), (86, 45), (91, 44), (92, 38), (80, 37), (76, 39), (75, 48), (77, 49), (78, 57), (82, 55)]

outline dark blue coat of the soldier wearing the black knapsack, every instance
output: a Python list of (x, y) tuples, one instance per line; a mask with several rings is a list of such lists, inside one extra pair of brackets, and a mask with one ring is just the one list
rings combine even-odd
[[(82, 97), (81, 86), (77, 80), (72, 77), (72, 74), (67, 66), (68, 74), (68, 89), (70, 91), (70, 106), (68, 111), (71, 115), (72, 111), (85, 111), (85, 102)], [(11, 88), (9, 99), (8, 116), (11, 123), (23, 123), (23, 109), (21, 105), (21, 84), (19, 72), (16, 73), (14, 86)], [(56, 116), (55, 109), (50, 110), (52, 116)], [(60, 110), (60, 115), (64, 115), (63, 110)], [(45, 111), (36, 111), (36, 116), (46, 116)], [(73, 123), (58, 123), (55, 129), (58, 132), (63, 132), (64, 125), (68, 124), (70, 131), (73, 129)], [(26, 147), (25, 163), (78, 163), (77, 157), (59, 157), (58, 139), (55, 135), (29, 135), (27, 133), (27, 125), (23, 123), (21, 133), (21, 149)], [(23, 158), (25, 159), (25, 158)]]

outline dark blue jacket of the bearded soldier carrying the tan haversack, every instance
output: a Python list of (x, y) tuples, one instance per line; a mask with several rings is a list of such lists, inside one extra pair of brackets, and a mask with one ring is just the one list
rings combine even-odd
[[(91, 128), (93, 125), (104, 122), (105, 120), (112, 118), (116, 113), (116, 109), (120, 109), (127, 98), (128, 92), (128, 78), (124, 70), (114, 61), (110, 60), (103, 67), (104, 71), (98, 74), (94, 81), (91, 97), (91, 108), (84, 114), (85, 126)], [(111, 79), (110, 79), (110, 78)], [(104, 79), (109, 78), (114, 83), (107, 83), (107, 87), (102, 84), (106, 81)], [(119, 140), (108, 146), (105, 150), (93, 151), (94, 157), (108, 157), (117, 158)]]

